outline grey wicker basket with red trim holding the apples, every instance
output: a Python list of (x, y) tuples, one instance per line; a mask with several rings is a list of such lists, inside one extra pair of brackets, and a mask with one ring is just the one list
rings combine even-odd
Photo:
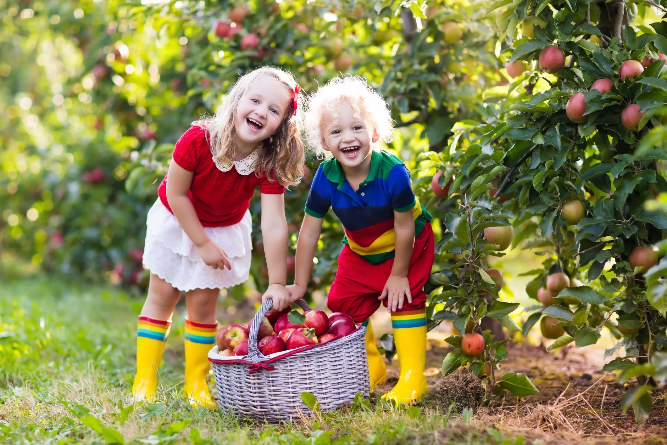
[[(352, 402), (358, 392), (369, 396), (364, 326), (325, 344), (264, 356), (257, 349), (257, 331), (272, 304), (267, 300), (255, 314), (247, 356), (223, 357), (217, 346), (208, 354), (221, 409), (240, 418), (288, 422), (310, 414), (302, 392), (313, 394), (324, 412)], [(297, 304), (310, 310), (303, 300)]]

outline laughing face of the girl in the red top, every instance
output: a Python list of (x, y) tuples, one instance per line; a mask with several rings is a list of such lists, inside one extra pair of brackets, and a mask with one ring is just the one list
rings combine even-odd
[(275, 134), (292, 101), (292, 95), (275, 77), (262, 76), (241, 96), (234, 128), (241, 145), (257, 145)]

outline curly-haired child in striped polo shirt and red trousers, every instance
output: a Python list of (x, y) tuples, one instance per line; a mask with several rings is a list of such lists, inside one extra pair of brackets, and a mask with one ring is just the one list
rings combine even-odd
[(306, 115), (308, 143), (319, 165), (310, 188), (296, 250), (291, 301), (305, 293), (322, 221), (329, 207), (340, 219), (345, 246), (327, 296), (334, 312), (367, 326), (371, 387), (384, 382), (386, 367), (369, 317), (381, 300), (392, 314), (400, 378), (383, 398), (410, 403), (428, 393), (426, 294), (434, 260), (431, 215), (412, 192), (410, 171), (380, 149), (392, 138), (386, 102), (361, 77), (332, 79), (311, 98)]

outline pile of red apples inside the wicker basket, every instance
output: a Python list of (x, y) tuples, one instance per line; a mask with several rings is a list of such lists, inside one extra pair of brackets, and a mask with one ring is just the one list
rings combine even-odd
[[(288, 314), (289, 308), (281, 312), (269, 311), (261, 320), (257, 332), (257, 348), (263, 355), (268, 356), (309, 344), (328, 343), (338, 336), (352, 334), (358, 328), (352, 317), (343, 312), (334, 312), (327, 316), (321, 310), (305, 311), (302, 325), (290, 322)], [(220, 354), (225, 357), (247, 356), (251, 326), (252, 320), (247, 326), (232, 324), (220, 328), (215, 336), (215, 344)]]

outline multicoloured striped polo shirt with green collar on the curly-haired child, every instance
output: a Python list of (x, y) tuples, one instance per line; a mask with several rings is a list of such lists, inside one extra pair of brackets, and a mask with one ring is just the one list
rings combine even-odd
[(368, 177), (354, 191), (335, 158), (319, 165), (305, 203), (309, 215), (322, 218), (329, 210), (338, 216), (343, 242), (371, 264), (394, 258), (394, 211), (413, 209), (415, 236), (432, 217), (419, 203), (406, 165), (386, 150), (371, 154)]

